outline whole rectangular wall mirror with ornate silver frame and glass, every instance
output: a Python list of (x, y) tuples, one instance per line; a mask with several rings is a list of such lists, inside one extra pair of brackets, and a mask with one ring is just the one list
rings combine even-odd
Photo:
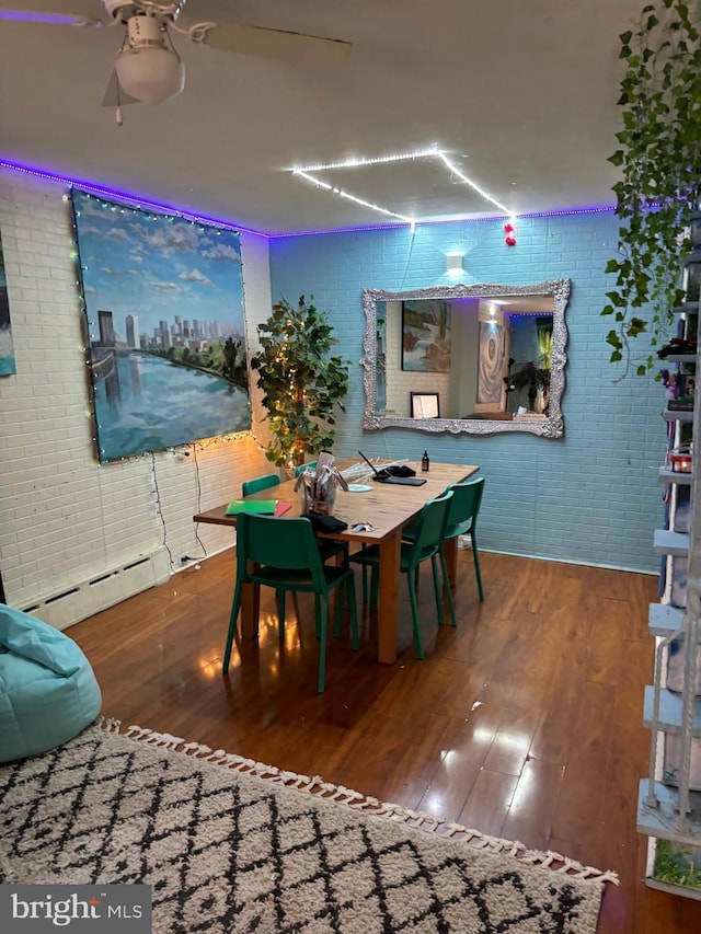
[(570, 279), (364, 289), (363, 427), (561, 438), (568, 298)]

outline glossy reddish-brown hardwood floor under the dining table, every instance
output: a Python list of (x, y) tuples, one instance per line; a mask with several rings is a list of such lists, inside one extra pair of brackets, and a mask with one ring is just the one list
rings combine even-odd
[(222, 677), (234, 560), (216, 555), (68, 631), (105, 715), (614, 869), (621, 885), (607, 886), (600, 934), (701, 930), (701, 902), (642, 881), (635, 802), (654, 577), (483, 554), (480, 604), (471, 554), (459, 552), (458, 629), (438, 630), (426, 568), (426, 659), (415, 657), (402, 580), (398, 661), (376, 661), (366, 609), (359, 652), (347, 631), (330, 638), (319, 695), (306, 597), (288, 599), (280, 645), (264, 592), (260, 643), (239, 641)]

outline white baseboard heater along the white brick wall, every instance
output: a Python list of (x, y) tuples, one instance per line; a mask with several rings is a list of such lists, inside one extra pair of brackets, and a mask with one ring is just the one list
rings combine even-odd
[(159, 549), (20, 609), (57, 630), (65, 630), (135, 593), (164, 584), (170, 576), (168, 551)]

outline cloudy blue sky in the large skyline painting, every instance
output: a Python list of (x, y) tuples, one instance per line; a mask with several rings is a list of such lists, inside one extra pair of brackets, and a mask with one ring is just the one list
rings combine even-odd
[(73, 207), (91, 339), (97, 311), (112, 311), (117, 339), (126, 316), (151, 335), (161, 321), (219, 322), (243, 335), (239, 234), (140, 211), (73, 189)]

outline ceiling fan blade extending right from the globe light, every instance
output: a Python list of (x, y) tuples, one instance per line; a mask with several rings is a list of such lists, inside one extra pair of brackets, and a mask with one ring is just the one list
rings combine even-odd
[[(204, 25), (204, 24), (203, 24)], [(264, 26), (244, 26), (240, 23), (212, 23), (203, 38), (205, 45), (241, 55), (277, 58), (296, 65), (333, 65), (345, 58), (352, 45), (343, 39), (308, 36)], [(197, 30), (194, 26), (189, 32)]]

